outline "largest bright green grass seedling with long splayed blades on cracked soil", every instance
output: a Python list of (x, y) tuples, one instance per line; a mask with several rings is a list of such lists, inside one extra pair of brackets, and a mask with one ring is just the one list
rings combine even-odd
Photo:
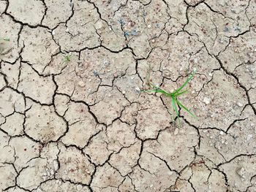
[(184, 82), (181, 87), (179, 87), (176, 91), (173, 91), (173, 93), (170, 93), (168, 91), (165, 91), (162, 88), (157, 87), (156, 85), (153, 85), (151, 82), (148, 81), (149, 85), (151, 86), (151, 90), (144, 90), (142, 92), (151, 92), (151, 93), (162, 93), (163, 95), (170, 97), (172, 99), (172, 107), (173, 110), (176, 112), (176, 116), (178, 118), (178, 124), (180, 125), (180, 120), (179, 120), (179, 112), (178, 112), (178, 107), (181, 107), (181, 109), (187, 111), (189, 115), (191, 115), (193, 118), (196, 118), (195, 114), (192, 113), (187, 107), (184, 106), (184, 104), (181, 104), (181, 101), (178, 100), (179, 96), (184, 95), (185, 93), (188, 92), (188, 90), (184, 90), (184, 87), (189, 83), (190, 80), (192, 80), (192, 77), (194, 77), (196, 73), (196, 70), (189, 76), (186, 82)]

